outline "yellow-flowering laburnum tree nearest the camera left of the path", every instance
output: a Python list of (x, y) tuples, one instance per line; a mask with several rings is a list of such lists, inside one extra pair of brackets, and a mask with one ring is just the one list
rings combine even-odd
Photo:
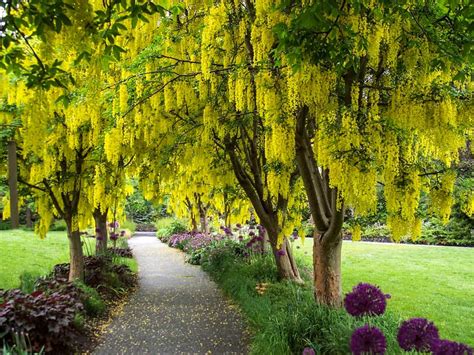
[[(37, 232), (45, 236), (55, 216), (65, 220), (70, 280), (83, 278), (80, 230), (90, 225), (93, 211), (101, 212), (103, 222), (104, 212), (117, 209), (118, 197), (124, 200), (126, 196), (123, 169), (127, 160), (121, 156), (111, 167), (102, 157), (107, 143), (105, 130), (115, 125), (109, 122), (113, 117), (103, 114), (108, 101), (101, 94), (108, 73), (104, 69), (110, 60), (104, 59), (100, 39), (82, 31), (100, 11), (101, 2), (96, 5), (94, 8), (87, 1), (76, 2), (66, 14), (70, 21), (66, 29), (44, 30), (44, 41), (25, 39), (26, 50), (34, 54), (32, 61), (44, 64), (63, 59), (61, 67), (73, 78), (68, 85), (62, 81), (57, 85), (32, 85), (31, 78), (21, 71), (2, 75), (6, 82), (2, 87), (9, 89), (7, 103), (17, 108), (23, 123), (20, 176), (35, 191), (41, 217)], [(79, 60), (84, 51), (90, 54), (88, 60)], [(103, 248), (103, 244), (98, 246)]]

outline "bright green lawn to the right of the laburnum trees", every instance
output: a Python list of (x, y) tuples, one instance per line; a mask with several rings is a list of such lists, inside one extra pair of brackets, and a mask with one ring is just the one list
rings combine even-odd
[[(312, 244), (297, 249), (311, 268)], [(403, 318), (428, 318), (441, 337), (474, 346), (474, 248), (344, 242), (342, 254), (344, 292), (378, 285)]]

